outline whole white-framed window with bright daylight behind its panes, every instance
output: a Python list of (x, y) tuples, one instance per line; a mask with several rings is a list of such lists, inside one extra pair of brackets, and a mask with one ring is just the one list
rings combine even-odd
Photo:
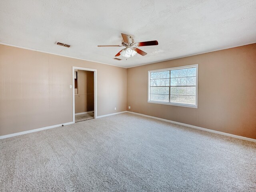
[(198, 64), (148, 71), (148, 102), (197, 108)]

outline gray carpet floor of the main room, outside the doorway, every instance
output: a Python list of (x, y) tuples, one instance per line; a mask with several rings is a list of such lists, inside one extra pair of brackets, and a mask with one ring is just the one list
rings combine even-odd
[(256, 191), (256, 144), (134, 114), (0, 140), (0, 191)]

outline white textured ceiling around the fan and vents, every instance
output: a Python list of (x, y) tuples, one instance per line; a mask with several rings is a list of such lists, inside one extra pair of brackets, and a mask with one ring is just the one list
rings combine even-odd
[[(114, 60), (120, 47), (97, 45), (121, 32), (159, 45)], [(256, 42), (256, 0), (1, 0), (0, 42), (132, 67)]]

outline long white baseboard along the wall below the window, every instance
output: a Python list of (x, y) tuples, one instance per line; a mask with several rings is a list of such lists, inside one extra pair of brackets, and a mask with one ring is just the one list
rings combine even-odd
[(132, 114), (136, 114), (136, 115), (140, 115), (140, 116), (144, 116), (144, 117), (149, 117), (149, 118), (153, 118), (153, 119), (157, 119), (157, 120), (161, 120), (161, 121), (166, 121), (166, 122), (178, 124), (178, 125), (187, 126), (187, 127), (190, 127), (190, 128), (195, 128), (195, 129), (199, 129), (199, 130), (203, 130), (203, 131), (208, 131), (208, 132), (212, 132), (212, 133), (216, 133), (216, 134), (220, 134), (220, 135), (225, 135), (225, 136), (234, 137), (234, 138), (238, 138), (238, 139), (242, 139), (242, 140), (246, 140), (246, 141), (256, 142), (256, 139), (252, 139), (252, 138), (248, 138), (248, 137), (233, 135), (233, 134), (229, 134), (229, 133), (224, 133), (224, 132), (220, 132), (220, 131), (206, 129), (206, 128), (202, 128), (202, 127), (198, 127), (198, 126), (194, 126), (194, 125), (189, 125), (189, 124), (185, 124), (185, 123), (180, 123), (180, 122), (176, 122), (176, 121), (171, 121), (171, 120), (167, 120), (167, 119), (162, 119), (162, 118), (158, 118), (158, 117), (153, 117), (153, 116), (149, 116), (149, 115), (135, 113), (135, 112), (131, 112), (131, 111), (127, 111), (127, 112), (132, 113)]

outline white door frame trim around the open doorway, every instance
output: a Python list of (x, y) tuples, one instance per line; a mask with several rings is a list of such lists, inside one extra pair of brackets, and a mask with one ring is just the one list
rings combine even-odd
[(97, 118), (97, 70), (72, 66), (73, 123), (75, 123), (75, 69), (94, 72), (94, 118)]

